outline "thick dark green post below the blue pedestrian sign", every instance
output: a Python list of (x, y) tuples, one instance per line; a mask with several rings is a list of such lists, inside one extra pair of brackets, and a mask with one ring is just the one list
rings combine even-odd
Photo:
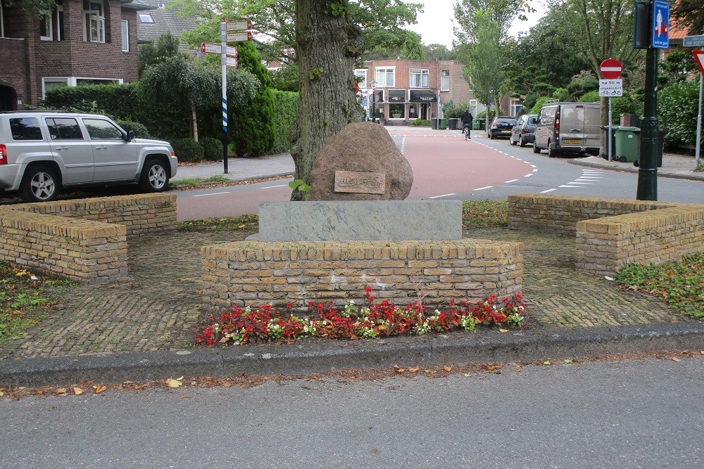
[[(652, 4), (651, 4), (652, 5)], [(641, 162), (638, 169), (638, 200), (658, 200), (658, 51), (646, 51), (646, 99), (641, 122)]]

